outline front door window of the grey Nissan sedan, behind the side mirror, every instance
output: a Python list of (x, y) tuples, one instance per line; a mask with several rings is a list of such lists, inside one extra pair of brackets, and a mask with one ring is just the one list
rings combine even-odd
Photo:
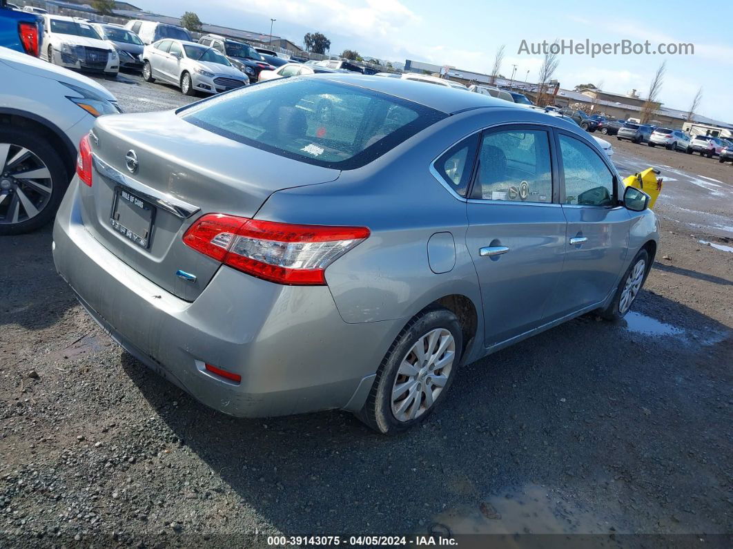
[(565, 177), (564, 204), (613, 206), (614, 174), (608, 166), (585, 143), (565, 135), (559, 137)]

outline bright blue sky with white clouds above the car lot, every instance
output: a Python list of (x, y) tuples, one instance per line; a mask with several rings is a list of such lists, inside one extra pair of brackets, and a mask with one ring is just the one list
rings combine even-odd
[[(252, 32), (270, 32), (303, 45), (306, 32), (323, 32), (331, 54), (345, 49), (361, 56), (451, 65), (490, 73), (496, 50), (505, 45), (501, 74), (536, 82), (541, 55), (520, 54), (528, 44), (554, 40), (594, 43), (692, 43), (692, 55), (561, 54), (554, 78), (561, 87), (603, 82), (608, 92), (649, 83), (666, 60), (659, 100), (687, 110), (700, 86), (697, 114), (733, 123), (733, 4), (712, 9), (696, 1), (534, 1), (480, 0), (133, 0), (163, 15), (193, 11), (205, 23)], [(529, 71), (527, 73), (527, 71)]]

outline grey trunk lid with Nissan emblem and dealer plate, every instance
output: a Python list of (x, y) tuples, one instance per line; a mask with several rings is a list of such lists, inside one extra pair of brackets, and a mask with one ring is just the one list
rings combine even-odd
[[(253, 217), (273, 192), (326, 183), (340, 173), (226, 139), (173, 111), (100, 117), (93, 134), (93, 184), (80, 185), (86, 229), (130, 267), (187, 301), (194, 301), (220, 266), (183, 243), (197, 218)], [(130, 151), (137, 161), (133, 170)], [(149, 219), (152, 229), (143, 235)], [(123, 222), (145, 246), (122, 234)]]

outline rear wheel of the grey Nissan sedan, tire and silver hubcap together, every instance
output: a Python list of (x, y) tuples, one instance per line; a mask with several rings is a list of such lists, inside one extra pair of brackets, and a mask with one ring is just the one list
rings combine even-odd
[[(438, 339), (432, 339), (432, 334), (436, 334)], [(452, 361), (433, 371), (430, 368), (432, 358), (424, 357), (426, 362), (422, 364), (426, 366), (420, 369), (413, 367), (412, 364), (421, 364), (414, 349), (422, 348), (424, 353), (422, 344), (429, 347), (431, 343), (434, 343), (433, 350), (440, 350), (443, 344), (447, 344), (441, 356), (446, 360), (447, 353), (452, 352)], [(436, 307), (413, 317), (389, 347), (377, 370), (367, 403), (358, 415), (359, 419), (384, 435), (404, 432), (425, 421), (446, 398), (460, 364), (462, 349), (461, 326), (456, 315), (449, 310)], [(445, 373), (446, 369), (449, 372)], [(432, 381), (439, 378), (443, 386), (432, 385)], [(393, 393), (399, 386), (405, 389), (397, 394), (393, 402)], [(413, 387), (417, 387), (417, 391), (412, 391)], [(432, 405), (427, 404), (429, 397), (426, 388), (430, 391)], [(405, 397), (402, 398), (402, 395)], [(400, 411), (400, 407), (404, 410)]]

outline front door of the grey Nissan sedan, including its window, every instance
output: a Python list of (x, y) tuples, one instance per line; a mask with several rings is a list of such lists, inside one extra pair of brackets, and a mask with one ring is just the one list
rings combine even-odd
[(561, 283), (548, 307), (548, 321), (597, 306), (615, 289), (631, 225), (629, 210), (619, 205), (619, 177), (603, 152), (561, 130), (556, 140), (567, 231)]

